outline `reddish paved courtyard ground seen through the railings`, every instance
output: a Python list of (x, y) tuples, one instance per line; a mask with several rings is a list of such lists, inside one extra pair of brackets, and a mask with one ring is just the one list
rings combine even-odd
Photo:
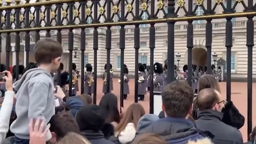
[[(98, 78), (97, 79), (97, 104), (99, 103), (101, 97), (103, 96), (102, 93), (102, 85), (103, 81), (102, 79)], [(113, 79), (113, 85), (114, 85), (114, 90), (112, 93), (116, 94), (118, 99), (120, 99), (120, 84), (118, 83), (118, 79)], [(130, 88), (130, 93), (128, 95), (127, 100), (124, 101), (124, 109), (129, 107), (131, 103), (134, 103), (134, 79), (130, 79), (129, 81), (129, 88)], [(226, 83), (221, 82), (220, 83), (220, 89), (222, 96), (226, 98)], [(253, 90), (256, 89), (256, 83), (253, 83)], [(253, 103), (256, 103), (256, 99), (254, 98), (256, 94), (253, 94)], [(244, 141), (247, 141), (247, 83), (231, 83), (231, 100), (235, 104), (235, 106), (239, 109), (239, 111), (243, 114), (243, 116), (246, 118), (246, 121), (244, 123), (244, 127), (240, 129), (242, 132), (242, 136), (244, 138)], [(145, 101), (139, 101), (140, 104), (143, 105), (145, 108), (145, 111), (149, 113), (149, 94), (145, 96)], [(256, 106), (253, 105), (253, 109), (255, 109)], [(253, 127), (256, 124), (256, 114), (253, 112)]]

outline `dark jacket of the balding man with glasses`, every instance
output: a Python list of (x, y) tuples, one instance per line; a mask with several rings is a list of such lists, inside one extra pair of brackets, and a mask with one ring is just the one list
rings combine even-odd
[(221, 121), (222, 112), (215, 110), (197, 110), (197, 129), (209, 131), (214, 135), (215, 144), (242, 144), (242, 134), (239, 130)]

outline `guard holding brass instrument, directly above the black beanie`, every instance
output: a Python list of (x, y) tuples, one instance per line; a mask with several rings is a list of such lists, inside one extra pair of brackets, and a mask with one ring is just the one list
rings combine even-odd
[(83, 94), (89, 94), (92, 96), (93, 94), (93, 74), (92, 74), (92, 65), (90, 63), (87, 63), (85, 65), (86, 73), (85, 73), (85, 87), (83, 89)]

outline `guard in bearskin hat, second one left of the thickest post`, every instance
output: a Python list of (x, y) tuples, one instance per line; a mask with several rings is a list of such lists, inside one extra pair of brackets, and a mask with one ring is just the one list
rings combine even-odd
[(145, 74), (144, 65), (140, 63), (138, 66), (138, 100), (144, 101), (147, 87), (147, 75)]

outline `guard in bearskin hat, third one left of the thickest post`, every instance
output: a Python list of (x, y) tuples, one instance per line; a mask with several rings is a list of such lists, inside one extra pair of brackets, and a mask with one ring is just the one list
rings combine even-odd
[[(127, 95), (130, 94), (130, 89), (129, 89), (129, 70), (127, 67), (124, 67), (124, 70), (123, 70), (123, 99), (127, 99)], [(121, 82), (121, 74), (119, 75), (119, 80), (118, 80), (118, 83)], [(120, 83), (121, 84), (121, 83)]]

